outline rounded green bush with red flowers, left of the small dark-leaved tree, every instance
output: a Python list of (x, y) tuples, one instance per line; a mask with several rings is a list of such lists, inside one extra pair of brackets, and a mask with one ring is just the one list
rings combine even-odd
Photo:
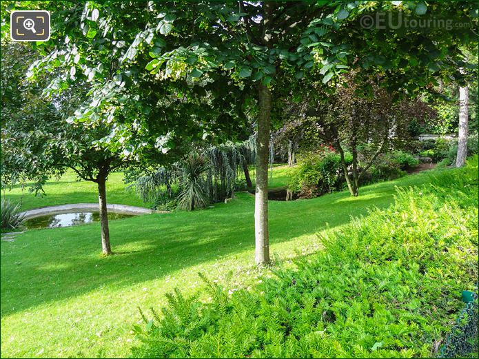
[[(346, 152), (345, 159), (351, 163), (351, 154)], [(313, 198), (340, 189), (342, 178), (340, 155), (325, 147), (298, 155), (289, 189), (300, 198)]]

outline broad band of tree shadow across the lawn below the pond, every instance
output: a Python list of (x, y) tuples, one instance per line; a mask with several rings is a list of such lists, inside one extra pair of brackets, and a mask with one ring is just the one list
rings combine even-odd
[[(414, 175), (312, 200), (271, 201), (271, 244), (348, 223), (371, 206), (392, 202), (395, 185), (421, 185)], [(114, 256), (102, 257), (98, 223), (31, 230), (1, 243), (1, 316), (100, 289), (128, 287), (188, 267), (254, 249), (254, 197), (238, 194), (229, 204), (198, 212), (151, 214), (113, 220)], [(248, 257), (249, 258), (249, 257)], [(250, 256), (253, 263), (253, 254)], [(179, 286), (181, 283), (179, 283)], [(104, 289), (107, 290), (107, 289)]]

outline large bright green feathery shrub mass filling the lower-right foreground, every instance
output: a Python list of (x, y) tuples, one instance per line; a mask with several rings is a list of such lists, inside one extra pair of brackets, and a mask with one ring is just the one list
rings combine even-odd
[(478, 157), (400, 189), (295, 269), (211, 300), (168, 296), (135, 326), (136, 358), (431, 357), (478, 278)]

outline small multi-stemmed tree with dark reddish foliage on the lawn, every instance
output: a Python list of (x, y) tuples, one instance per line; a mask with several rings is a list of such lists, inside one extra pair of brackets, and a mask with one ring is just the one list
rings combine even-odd
[[(363, 93), (365, 88), (358, 85), (359, 81), (367, 82), (369, 96)], [(322, 98), (308, 110), (307, 136), (331, 145), (340, 154), (349, 192), (358, 196), (360, 180), (378, 155), (408, 136), (407, 120), (384, 88), (357, 74), (345, 76), (333, 94)], [(345, 158), (345, 147), (352, 154), (351, 166)]]

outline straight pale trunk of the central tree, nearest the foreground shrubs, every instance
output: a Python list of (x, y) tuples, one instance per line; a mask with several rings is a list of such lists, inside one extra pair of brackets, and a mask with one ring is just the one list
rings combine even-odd
[(271, 91), (258, 85), (258, 136), (256, 136), (256, 194), (254, 201), (254, 229), (256, 239), (256, 264), (269, 263), (268, 232), (268, 159), (269, 126), (271, 122)]

